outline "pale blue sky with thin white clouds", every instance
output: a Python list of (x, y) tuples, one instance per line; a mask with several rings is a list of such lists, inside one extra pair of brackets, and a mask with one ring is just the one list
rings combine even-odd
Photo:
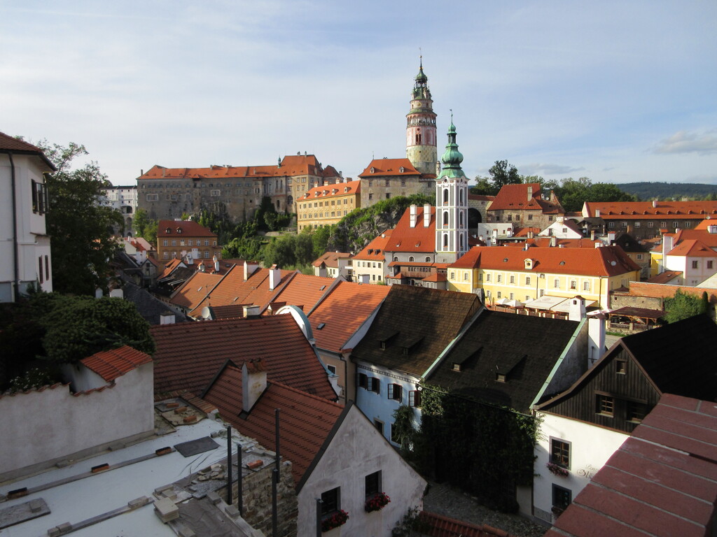
[(0, 0), (0, 132), (141, 170), (404, 158), (419, 56), (469, 178), (717, 184), (717, 2)]

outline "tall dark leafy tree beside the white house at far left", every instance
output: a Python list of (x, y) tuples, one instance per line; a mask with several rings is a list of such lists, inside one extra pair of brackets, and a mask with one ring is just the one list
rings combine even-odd
[(45, 140), (37, 145), (57, 168), (47, 175), (53, 289), (87, 295), (107, 289), (110, 260), (118, 248), (112, 230), (124, 230), (124, 219), (119, 211), (95, 203), (111, 183), (95, 162), (70, 169), (72, 160), (87, 155), (84, 145), (63, 147)]

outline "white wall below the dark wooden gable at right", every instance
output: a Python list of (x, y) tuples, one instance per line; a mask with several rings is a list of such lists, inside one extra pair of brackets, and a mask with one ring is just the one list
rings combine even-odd
[[(535, 448), (533, 516), (543, 522), (552, 523), (555, 521), (551, 513), (552, 485), (571, 490), (574, 500), (629, 435), (567, 417), (541, 412), (538, 412), (538, 416), (543, 418), (543, 422), (541, 437)], [(567, 477), (553, 475), (546, 466), (550, 460), (551, 437), (570, 442), (570, 467)]]

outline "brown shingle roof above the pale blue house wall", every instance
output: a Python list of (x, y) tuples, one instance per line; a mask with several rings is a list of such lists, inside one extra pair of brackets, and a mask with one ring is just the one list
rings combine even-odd
[[(394, 285), (353, 359), (423, 374), (480, 308), (478, 296)], [(386, 349), (381, 349), (386, 341)], [(404, 354), (404, 347), (409, 347)]]

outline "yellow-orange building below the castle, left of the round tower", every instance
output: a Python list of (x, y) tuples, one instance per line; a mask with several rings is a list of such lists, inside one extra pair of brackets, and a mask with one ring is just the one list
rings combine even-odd
[(332, 226), (361, 207), (361, 181), (337, 182), (311, 188), (296, 200), (298, 231)]

